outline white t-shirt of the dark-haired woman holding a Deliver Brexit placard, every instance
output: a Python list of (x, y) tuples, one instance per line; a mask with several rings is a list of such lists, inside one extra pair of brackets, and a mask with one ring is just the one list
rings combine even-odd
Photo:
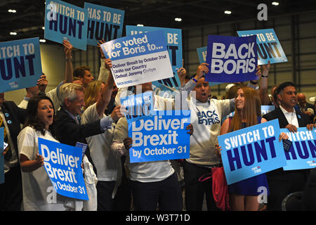
[[(58, 142), (49, 131), (43, 136), (32, 127), (25, 127), (18, 135), (19, 154), (35, 160), (39, 152), (38, 138)], [(23, 208), (25, 211), (75, 210), (77, 200), (58, 195), (51, 184), (46, 170), (39, 167), (33, 172), (22, 172)], [(81, 201), (80, 201), (81, 202)]]

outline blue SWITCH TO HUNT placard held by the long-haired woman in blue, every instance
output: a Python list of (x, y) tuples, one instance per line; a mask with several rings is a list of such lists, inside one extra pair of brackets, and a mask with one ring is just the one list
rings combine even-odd
[(279, 121), (270, 120), (218, 136), (228, 184), (287, 165)]

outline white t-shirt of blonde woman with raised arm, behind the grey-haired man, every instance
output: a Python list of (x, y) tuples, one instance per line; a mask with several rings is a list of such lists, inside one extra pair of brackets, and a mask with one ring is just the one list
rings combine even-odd
[[(103, 114), (103, 117), (106, 117), (106, 115)], [(84, 110), (84, 113), (81, 116), (81, 123), (86, 124), (94, 122), (103, 117), (99, 117), (96, 103), (94, 103)], [(105, 130), (103, 134), (86, 138), (93, 164), (97, 169), (97, 177), (99, 181), (117, 180), (117, 169), (120, 165), (120, 160), (114, 157), (114, 153), (111, 150), (114, 125), (115, 124), (112, 123), (112, 128)]]

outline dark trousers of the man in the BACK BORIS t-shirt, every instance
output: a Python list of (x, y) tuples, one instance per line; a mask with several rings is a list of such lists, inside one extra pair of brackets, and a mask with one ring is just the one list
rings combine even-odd
[(211, 168), (199, 167), (185, 161), (185, 208), (187, 211), (202, 211), (204, 194), (206, 195), (206, 205), (209, 211), (219, 211), (216, 207), (213, 191), (212, 179), (200, 182), (199, 178), (205, 174), (211, 174)]

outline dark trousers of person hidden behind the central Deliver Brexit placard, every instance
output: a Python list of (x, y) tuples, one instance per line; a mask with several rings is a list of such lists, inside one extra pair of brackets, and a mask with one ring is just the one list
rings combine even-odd
[[(176, 173), (163, 181), (131, 181), (133, 203), (136, 211), (181, 211), (182, 196)], [(159, 206), (157, 205), (159, 204)]]

